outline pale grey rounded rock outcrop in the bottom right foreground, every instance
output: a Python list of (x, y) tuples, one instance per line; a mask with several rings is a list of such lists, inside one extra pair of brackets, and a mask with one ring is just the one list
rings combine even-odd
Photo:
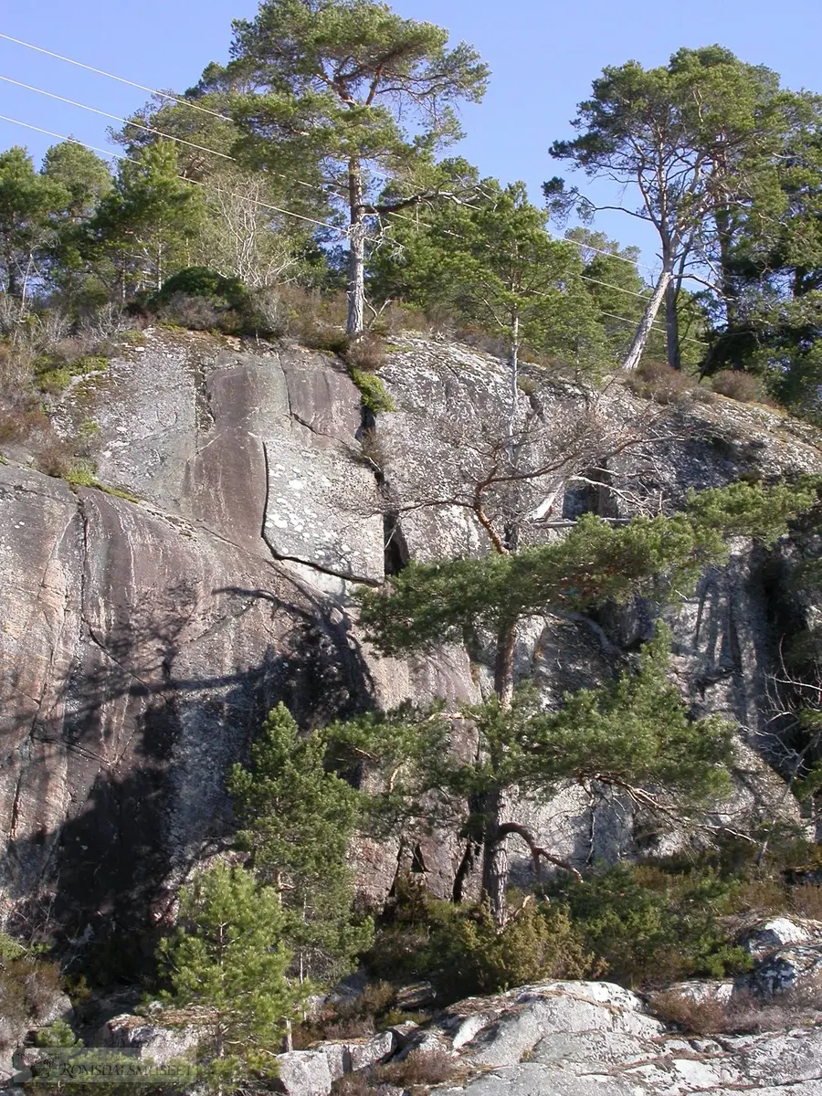
[[(459, 1084), (442, 1096), (822, 1092), (822, 1028), (686, 1037), (606, 982), (553, 982), (454, 1005), (441, 1023)], [(467, 1038), (466, 1038), (467, 1037)]]

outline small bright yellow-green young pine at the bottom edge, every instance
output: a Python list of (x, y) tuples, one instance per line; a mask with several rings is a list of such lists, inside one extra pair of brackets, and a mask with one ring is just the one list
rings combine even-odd
[(285, 928), (278, 894), (244, 868), (217, 865), (181, 893), (175, 932), (158, 955), (171, 985), (163, 1000), (196, 1009), (209, 1092), (222, 1096), (251, 1074), (276, 1075), (273, 1054), (299, 1000), (286, 979)]

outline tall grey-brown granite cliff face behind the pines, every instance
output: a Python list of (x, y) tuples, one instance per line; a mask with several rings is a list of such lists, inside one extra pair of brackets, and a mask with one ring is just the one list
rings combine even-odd
[[(381, 376), (397, 410), (375, 426), (333, 356), (149, 332), (55, 408), (66, 436), (94, 424), (98, 479), (135, 501), (70, 487), (8, 454), (3, 915), (50, 916), (75, 941), (162, 921), (179, 880), (230, 831), (226, 773), (278, 700), (311, 727), (375, 704), (488, 689), (482, 637), (470, 657), (450, 646), (377, 658), (351, 594), (408, 558), (487, 549), (466, 492), (507, 416), (505, 366), (408, 336)], [(660, 495), (675, 503), (743, 473), (822, 468), (813, 436), (765, 409), (720, 397), (659, 408), (621, 386), (592, 402), (571, 383), (535, 384), (515, 418), (529, 432), (529, 459), (552, 471), (521, 489), (532, 541), (561, 536), (584, 510), (630, 516)], [(642, 438), (615, 455), (640, 422)], [(586, 460), (602, 469), (603, 454), (607, 475), (580, 472)], [(791, 551), (766, 558), (735, 545), (673, 620), (683, 692), (745, 732), (734, 817), (785, 802), (761, 752), (774, 598)], [(648, 627), (641, 605), (597, 620), (535, 618), (522, 630), (518, 672), (533, 672), (553, 701), (612, 675)], [(635, 849), (625, 804), (579, 788), (514, 810), (580, 864)], [(449, 893), (460, 852), (442, 834), (415, 850), (438, 893)], [(363, 891), (383, 899), (411, 853), (362, 842)], [(529, 865), (515, 859), (523, 881)]]

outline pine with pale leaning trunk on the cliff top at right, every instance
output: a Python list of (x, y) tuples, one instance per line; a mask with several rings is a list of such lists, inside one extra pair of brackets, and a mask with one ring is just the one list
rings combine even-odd
[[(659, 308), (665, 307), (669, 364), (680, 361), (677, 295), (697, 258), (721, 256), (740, 205), (750, 203), (789, 127), (791, 96), (775, 72), (745, 65), (720, 46), (680, 49), (667, 66), (609, 66), (594, 80), (572, 125), (579, 136), (551, 155), (589, 178), (635, 186), (635, 209), (659, 236), (662, 271), (624, 367), (635, 369)], [(561, 180), (545, 184), (558, 202)], [(573, 196), (575, 192), (572, 192)], [(593, 203), (583, 199), (593, 213)], [(720, 292), (723, 287), (719, 287)]]

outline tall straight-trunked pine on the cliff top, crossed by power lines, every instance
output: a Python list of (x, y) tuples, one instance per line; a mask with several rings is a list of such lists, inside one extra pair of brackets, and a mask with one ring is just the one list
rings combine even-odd
[[(433, 155), (459, 138), (454, 106), (478, 102), (488, 70), (447, 31), (402, 19), (374, 0), (263, 0), (253, 22), (235, 23), (233, 60), (209, 66), (201, 91), (242, 78), (254, 92), (235, 115), (249, 135), (247, 155), (278, 170), (319, 167), (349, 221), (347, 330), (363, 330), (365, 244), (369, 218), (411, 208), (432, 195)], [(389, 178), (406, 196), (369, 196)]]

